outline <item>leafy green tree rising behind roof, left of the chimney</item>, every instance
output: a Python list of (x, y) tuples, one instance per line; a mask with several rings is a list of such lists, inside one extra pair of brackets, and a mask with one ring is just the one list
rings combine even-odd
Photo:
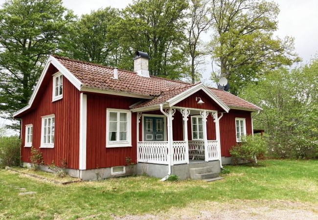
[(120, 45), (114, 27), (118, 20), (118, 10), (111, 7), (82, 15), (80, 20), (73, 23), (64, 39), (61, 55), (92, 63), (118, 66), (121, 53), (118, 53)]

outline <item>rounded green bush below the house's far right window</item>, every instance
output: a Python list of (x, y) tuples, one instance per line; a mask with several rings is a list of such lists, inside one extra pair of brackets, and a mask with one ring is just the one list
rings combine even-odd
[(232, 163), (238, 164), (240, 160), (254, 161), (256, 157), (264, 157), (267, 152), (267, 142), (265, 137), (249, 135), (240, 144), (233, 146), (229, 153), (232, 156)]

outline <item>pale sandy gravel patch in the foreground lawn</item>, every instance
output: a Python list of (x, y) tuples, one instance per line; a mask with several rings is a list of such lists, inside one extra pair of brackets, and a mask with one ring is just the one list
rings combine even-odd
[(318, 204), (290, 201), (235, 200), (231, 202), (198, 202), (185, 208), (171, 208), (156, 215), (112, 216), (115, 220), (317, 220)]

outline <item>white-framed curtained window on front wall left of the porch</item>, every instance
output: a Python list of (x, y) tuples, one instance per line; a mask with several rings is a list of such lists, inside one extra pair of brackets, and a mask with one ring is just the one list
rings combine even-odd
[(131, 112), (107, 110), (106, 147), (131, 147)]

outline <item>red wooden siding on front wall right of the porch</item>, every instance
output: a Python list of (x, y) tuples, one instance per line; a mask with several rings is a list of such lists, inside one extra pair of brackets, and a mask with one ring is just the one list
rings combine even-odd
[(235, 118), (245, 118), (246, 133), (252, 133), (249, 111), (230, 110), (220, 119), (221, 155), (230, 156), (229, 150), (236, 145)]

